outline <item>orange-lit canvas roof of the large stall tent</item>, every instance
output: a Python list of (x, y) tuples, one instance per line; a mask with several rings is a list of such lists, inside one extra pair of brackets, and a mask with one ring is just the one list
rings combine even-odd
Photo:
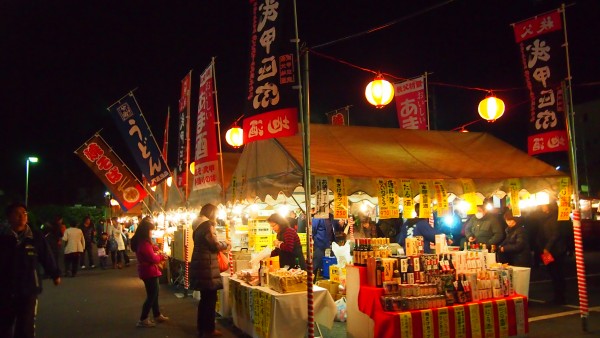
[[(238, 193), (289, 196), (302, 182), (302, 154), (301, 133), (247, 144), (234, 173), (247, 182)], [(555, 190), (557, 178), (566, 176), (487, 133), (313, 124), (310, 154), (313, 176), (352, 178), (348, 193), (371, 196), (376, 195), (372, 178), (441, 179), (455, 193), (462, 193), (461, 179), (473, 179), (477, 190), (489, 195), (510, 178), (539, 191)]]

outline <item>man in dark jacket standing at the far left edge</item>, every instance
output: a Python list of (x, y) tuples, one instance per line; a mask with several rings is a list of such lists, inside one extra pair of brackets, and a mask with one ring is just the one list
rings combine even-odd
[(27, 208), (6, 208), (0, 225), (0, 337), (34, 337), (37, 297), (42, 292), (38, 264), (60, 284), (60, 271), (42, 233), (27, 224)]

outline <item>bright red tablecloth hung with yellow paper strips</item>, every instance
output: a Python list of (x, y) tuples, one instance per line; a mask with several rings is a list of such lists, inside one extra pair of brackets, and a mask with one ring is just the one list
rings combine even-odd
[(360, 268), (358, 307), (375, 322), (374, 337), (510, 337), (529, 332), (527, 297), (489, 299), (437, 309), (386, 312), (382, 288), (366, 286)]

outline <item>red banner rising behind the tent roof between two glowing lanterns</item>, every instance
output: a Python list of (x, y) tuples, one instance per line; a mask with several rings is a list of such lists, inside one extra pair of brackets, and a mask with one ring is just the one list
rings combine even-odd
[(394, 84), (396, 113), (401, 129), (429, 129), (425, 77)]

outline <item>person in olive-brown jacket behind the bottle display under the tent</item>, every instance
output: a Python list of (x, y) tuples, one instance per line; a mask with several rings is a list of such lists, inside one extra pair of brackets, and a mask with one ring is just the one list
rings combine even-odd
[(465, 225), (465, 237), (469, 243), (485, 244), (489, 249), (502, 242), (504, 227), (496, 215), (488, 213), (483, 205), (478, 205), (477, 213)]

